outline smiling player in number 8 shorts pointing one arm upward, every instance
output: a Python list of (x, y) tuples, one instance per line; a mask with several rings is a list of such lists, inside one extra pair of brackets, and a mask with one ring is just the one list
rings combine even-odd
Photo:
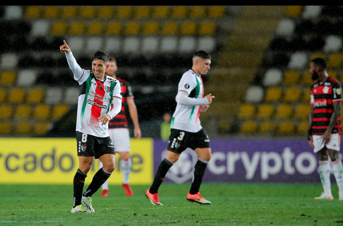
[[(84, 70), (77, 63), (66, 41), (60, 51), (67, 57), (74, 79), (80, 84), (78, 116), (76, 120), (76, 141), (79, 169), (74, 176), (74, 205), (72, 213), (94, 212), (91, 196), (111, 176), (115, 169), (116, 151), (108, 136), (108, 122), (121, 109), (120, 83), (105, 75), (109, 55), (98, 50), (92, 60), (92, 70)], [(113, 106), (113, 109), (111, 109)], [(93, 156), (103, 162), (91, 184), (83, 191), (87, 172)]]

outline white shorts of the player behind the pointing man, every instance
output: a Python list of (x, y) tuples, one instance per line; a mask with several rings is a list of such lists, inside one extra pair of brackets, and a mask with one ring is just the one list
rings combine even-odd
[(127, 128), (108, 129), (108, 134), (114, 144), (116, 152), (131, 151), (129, 129)]

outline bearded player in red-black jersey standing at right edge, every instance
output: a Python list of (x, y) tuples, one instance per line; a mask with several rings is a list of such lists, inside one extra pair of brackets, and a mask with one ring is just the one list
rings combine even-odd
[(311, 110), (308, 123), (308, 144), (314, 148), (319, 161), (320, 179), (324, 192), (315, 200), (332, 200), (329, 156), (339, 188), (339, 199), (343, 200), (343, 165), (339, 157), (341, 144), (341, 84), (328, 76), (323, 58), (310, 63)]

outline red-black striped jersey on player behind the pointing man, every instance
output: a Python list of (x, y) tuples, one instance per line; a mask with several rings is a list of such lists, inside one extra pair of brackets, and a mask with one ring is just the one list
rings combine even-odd
[(127, 81), (120, 78), (117, 78), (117, 80), (119, 80), (120, 88), (121, 88), (121, 96), (122, 96), (121, 111), (114, 118), (112, 118), (111, 121), (108, 122), (109, 129), (129, 128), (126, 113), (125, 113), (125, 106), (126, 106), (127, 99), (133, 99), (133, 94), (132, 94), (131, 86)]

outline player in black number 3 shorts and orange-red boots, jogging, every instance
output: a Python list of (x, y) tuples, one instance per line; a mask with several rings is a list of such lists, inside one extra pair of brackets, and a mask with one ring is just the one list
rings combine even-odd
[(162, 205), (158, 199), (158, 188), (169, 168), (188, 147), (198, 154), (199, 159), (194, 167), (193, 182), (186, 199), (199, 204), (211, 204), (199, 192), (207, 163), (211, 159), (210, 140), (199, 120), (200, 111), (205, 112), (214, 98), (211, 93), (203, 97), (204, 86), (201, 79), (210, 69), (211, 56), (200, 50), (194, 53), (192, 60), (192, 69), (186, 71), (179, 82), (175, 98), (176, 110), (171, 118), (167, 156), (159, 165), (154, 182), (145, 193), (153, 205)]

